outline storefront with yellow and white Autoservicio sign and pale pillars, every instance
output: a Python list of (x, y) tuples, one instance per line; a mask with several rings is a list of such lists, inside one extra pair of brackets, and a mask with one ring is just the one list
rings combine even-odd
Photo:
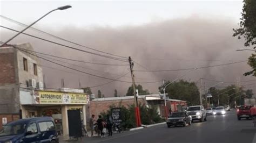
[(80, 110), (82, 124), (86, 125), (85, 105), (89, 95), (60, 91), (20, 91), (22, 118), (49, 116), (64, 139), (69, 138), (68, 110)]

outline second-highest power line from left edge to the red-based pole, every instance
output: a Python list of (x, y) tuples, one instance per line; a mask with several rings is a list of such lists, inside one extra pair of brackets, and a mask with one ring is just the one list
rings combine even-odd
[[(2, 25), (0, 25), (0, 27), (6, 28), (6, 29), (11, 30), (11, 31), (19, 32), (19, 31), (17, 31), (17, 30), (14, 30), (14, 29), (12, 29), (12, 28), (8, 28), (8, 27), (2, 26)], [(22, 33), (22, 34), (25, 34), (25, 35), (28, 35), (28, 36), (30, 36), (30, 37), (37, 38), (37, 39), (40, 39), (40, 40), (43, 40), (43, 41), (51, 42), (52, 44), (56, 44), (56, 45), (59, 45), (59, 46), (63, 46), (63, 47), (75, 49), (76, 51), (81, 51), (81, 52), (85, 52), (85, 53), (89, 53), (89, 54), (93, 54), (93, 55), (98, 55), (98, 56), (101, 56), (101, 57), (104, 57), (104, 58), (108, 58), (108, 59), (112, 59), (112, 60), (118, 60), (118, 61), (128, 62), (128, 61), (125, 60), (125, 59), (114, 58), (114, 57), (112, 57), (112, 56), (107, 56), (107, 55), (102, 55), (102, 54), (97, 54), (97, 53), (85, 51), (85, 50), (83, 50), (83, 49), (78, 49), (78, 48), (71, 47), (71, 46), (67, 46), (67, 45), (64, 45), (64, 44), (59, 44), (58, 42), (54, 42), (54, 41), (51, 41), (51, 40), (46, 40), (46, 39), (43, 39), (43, 38), (40, 38), (40, 37), (36, 37), (36, 36), (34, 36), (34, 35), (31, 35), (31, 34), (26, 34), (26, 33)]]

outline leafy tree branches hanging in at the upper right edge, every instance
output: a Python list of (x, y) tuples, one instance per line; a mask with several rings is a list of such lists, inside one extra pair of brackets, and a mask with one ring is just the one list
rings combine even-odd
[[(234, 34), (233, 37), (238, 37), (241, 39), (243, 37), (245, 39), (244, 46), (249, 47), (256, 44), (256, 1), (255, 0), (244, 0), (244, 6), (242, 8), (242, 18), (240, 21), (240, 28), (233, 29)], [(254, 49), (256, 46), (253, 47)], [(250, 58), (248, 58), (248, 65), (252, 67), (253, 70), (248, 71), (244, 74), (256, 76), (256, 55), (252, 54)]]

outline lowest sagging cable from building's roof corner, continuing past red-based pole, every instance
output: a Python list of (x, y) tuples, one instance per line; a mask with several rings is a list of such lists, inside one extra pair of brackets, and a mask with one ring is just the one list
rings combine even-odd
[[(14, 45), (12, 45), (12, 46), (14, 46)], [(60, 64), (60, 63), (53, 62), (53, 61), (51, 61), (51, 60), (42, 58), (41, 56), (38, 56), (38, 55), (35, 55), (35, 54), (32, 54), (32, 53), (29, 53), (29, 52), (27, 52), (27, 51), (24, 51), (24, 50), (20, 49), (19, 47), (16, 47), (16, 46), (14, 46), (14, 47), (17, 48), (17, 49), (20, 50), (20, 51), (23, 51), (23, 52), (28, 53), (28, 54), (30, 54), (30, 55), (36, 56), (37, 58), (43, 59), (43, 60), (48, 61), (48, 62), (51, 62), (51, 63), (55, 63), (56, 65), (59, 65), (59, 66), (65, 67), (65, 68), (69, 68), (69, 69), (72, 69), (72, 70), (75, 70), (75, 71), (79, 71), (80, 73), (84, 73), (84, 74), (91, 75), (91, 76), (95, 76), (95, 77), (99, 77), (99, 78), (104, 78), (104, 79), (106, 79), (106, 80), (114, 80), (114, 81), (119, 81), (119, 82), (132, 83), (132, 82), (128, 82), (128, 81), (120, 81), (120, 80), (115, 80), (115, 79), (113, 79), (113, 78), (107, 78), (107, 77), (103, 77), (103, 76), (98, 76), (98, 75), (86, 73), (85, 71), (78, 70), (78, 69), (75, 69), (75, 68), (71, 68), (71, 67), (62, 65), (62, 64)], [(159, 81), (153, 81), (153, 82), (138, 82), (138, 83), (156, 83), (156, 82), (159, 82)]]

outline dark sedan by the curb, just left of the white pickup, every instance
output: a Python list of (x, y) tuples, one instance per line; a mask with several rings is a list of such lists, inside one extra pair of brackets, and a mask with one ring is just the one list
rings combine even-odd
[(192, 119), (187, 112), (173, 112), (166, 120), (167, 127), (191, 125)]

